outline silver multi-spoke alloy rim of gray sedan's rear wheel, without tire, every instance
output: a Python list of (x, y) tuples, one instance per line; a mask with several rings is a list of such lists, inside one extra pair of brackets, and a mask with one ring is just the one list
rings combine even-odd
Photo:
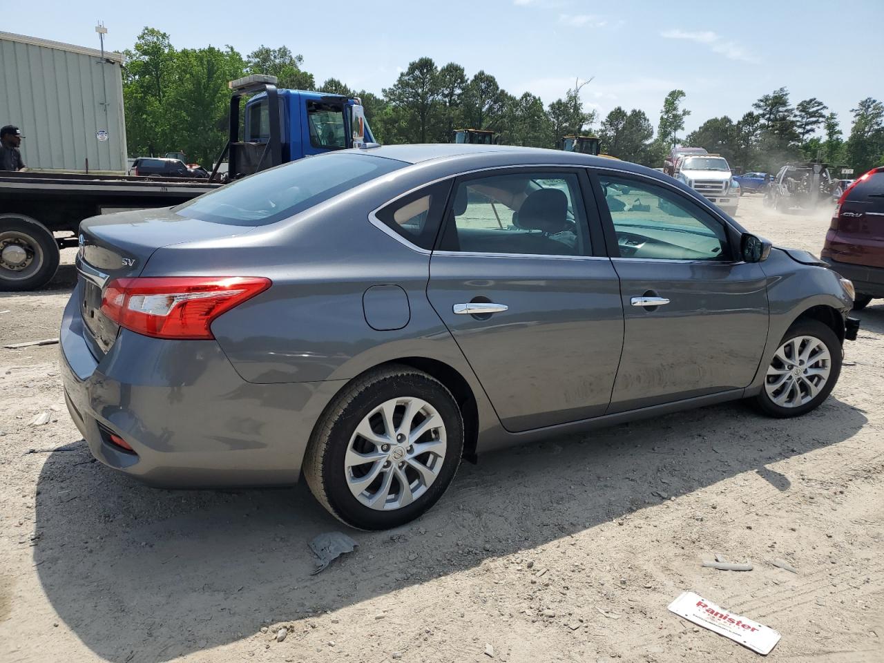
[(445, 461), (446, 427), (425, 400), (402, 397), (373, 408), (344, 457), (347, 487), (364, 506), (406, 507), (430, 488)]

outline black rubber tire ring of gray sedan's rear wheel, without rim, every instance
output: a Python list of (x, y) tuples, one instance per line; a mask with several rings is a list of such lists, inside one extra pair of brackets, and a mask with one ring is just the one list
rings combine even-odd
[[(446, 451), (435, 480), (408, 506), (378, 510), (347, 487), (344, 461), (362, 419), (387, 400), (419, 398), (435, 408), (446, 430)], [(361, 530), (386, 530), (412, 521), (432, 507), (454, 477), (463, 453), (463, 419), (451, 392), (423, 371), (390, 366), (354, 379), (332, 400), (310, 438), (304, 477), (316, 499), (339, 521)], [(398, 482), (398, 479), (396, 479)]]

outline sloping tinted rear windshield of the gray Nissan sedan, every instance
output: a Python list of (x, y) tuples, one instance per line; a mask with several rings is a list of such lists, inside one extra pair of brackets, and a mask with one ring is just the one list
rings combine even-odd
[(309, 156), (228, 184), (172, 211), (229, 225), (267, 225), (408, 164), (378, 156)]

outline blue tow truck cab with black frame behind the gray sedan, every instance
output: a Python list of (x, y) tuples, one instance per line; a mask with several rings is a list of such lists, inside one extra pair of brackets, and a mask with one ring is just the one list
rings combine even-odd
[[(278, 89), (273, 76), (252, 75), (229, 83), (230, 140), (218, 158), (228, 156), (228, 177), (237, 179), (275, 165), (333, 149), (374, 142), (357, 97)], [(242, 116), (240, 99), (251, 95)]]

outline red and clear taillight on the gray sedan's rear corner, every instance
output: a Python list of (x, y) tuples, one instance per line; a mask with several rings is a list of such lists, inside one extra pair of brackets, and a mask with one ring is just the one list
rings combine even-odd
[(104, 289), (102, 312), (157, 339), (214, 339), (217, 316), (270, 286), (262, 277), (115, 278)]

